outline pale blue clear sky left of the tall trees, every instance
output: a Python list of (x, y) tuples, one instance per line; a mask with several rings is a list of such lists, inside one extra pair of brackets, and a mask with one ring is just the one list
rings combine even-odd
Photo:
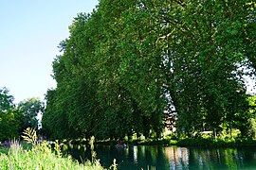
[(45, 98), (55, 88), (51, 63), (58, 44), (79, 12), (91, 12), (98, 0), (0, 0), (0, 88), (18, 103)]

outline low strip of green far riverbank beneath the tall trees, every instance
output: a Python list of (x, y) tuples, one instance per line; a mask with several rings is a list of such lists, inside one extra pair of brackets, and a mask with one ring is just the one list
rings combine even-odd
[[(116, 145), (119, 141), (117, 140), (96, 140), (95, 144), (102, 145)], [(89, 140), (86, 139), (76, 139), (76, 140), (63, 140), (62, 144), (89, 144)], [(230, 137), (230, 136), (219, 136), (213, 138), (211, 136), (202, 136), (197, 138), (189, 137), (178, 137), (176, 135), (165, 136), (161, 139), (123, 139), (123, 144), (127, 145), (177, 145), (183, 147), (256, 147), (256, 140), (251, 138), (239, 138), (239, 137)]]

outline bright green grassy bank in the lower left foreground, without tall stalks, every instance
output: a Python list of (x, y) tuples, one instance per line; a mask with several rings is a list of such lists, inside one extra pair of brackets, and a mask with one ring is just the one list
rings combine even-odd
[(24, 148), (21, 144), (12, 143), (10, 147), (0, 148), (1, 169), (103, 169), (100, 161), (85, 161), (79, 163), (71, 157), (63, 157), (61, 152), (52, 149), (49, 144), (34, 145), (31, 149)]

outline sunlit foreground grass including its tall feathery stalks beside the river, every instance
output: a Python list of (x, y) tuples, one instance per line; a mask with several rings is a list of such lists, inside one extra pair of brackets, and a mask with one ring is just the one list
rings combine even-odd
[[(19, 144), (10, 142), (8, 147), (0, 147), (1, 169), (104, 169), (94, 152), (94, 138), (90, 141), (92, 150), (92, 161), (74, 161), (70, 156), (63, 156), (61, 145), (55, 142), (54, 152), (51, 145), (46, 142), (37, 144), (35, 129), (27, 127), (24, 131), (24, 139), (27, 143)], [(27, 144), (30, 144), (29, 146)], [(111, 166), (117, 169), (115, 164)]]

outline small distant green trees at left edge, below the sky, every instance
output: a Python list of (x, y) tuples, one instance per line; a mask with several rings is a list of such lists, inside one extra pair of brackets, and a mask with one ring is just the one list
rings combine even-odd
[(27, 127), (38, 127), (38, 114), (44, 112), (39, 98), (28, 98), (18, 106), (7, 88), (0, 88), (0, 142), (19, 138)]

